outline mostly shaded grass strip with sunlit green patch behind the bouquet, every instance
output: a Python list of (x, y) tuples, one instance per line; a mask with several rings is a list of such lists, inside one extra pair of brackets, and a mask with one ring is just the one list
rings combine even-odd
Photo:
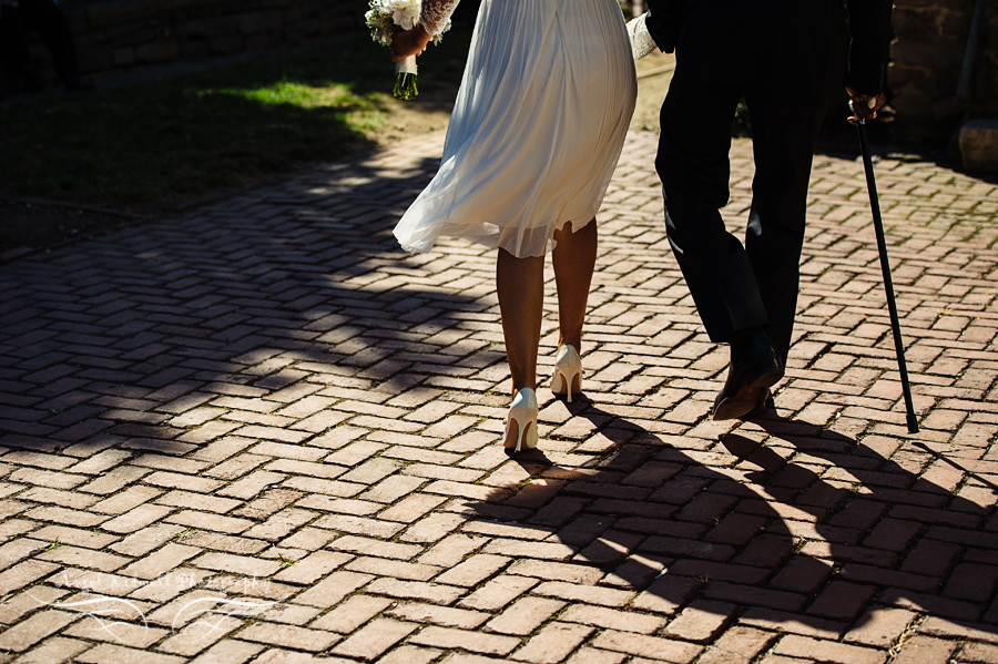
[[(452, 96), (469, 41), (456, 30), (427, 50), (420, 96)], [(135, 210), (291, 173), (374, 146), (404, 103), (391, 99), (394, 83), (387, 49), (358, 33), (143, 85), (2, 108), (0, 196)]]

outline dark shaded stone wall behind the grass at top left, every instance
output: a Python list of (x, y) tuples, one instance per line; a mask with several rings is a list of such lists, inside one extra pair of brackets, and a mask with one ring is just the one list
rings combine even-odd
[[(306, 43), (356, 30), (363, 0), (118, 0), (65, 4), (84, 75)], [(32, 58), (54, 79), (48, 50)]]

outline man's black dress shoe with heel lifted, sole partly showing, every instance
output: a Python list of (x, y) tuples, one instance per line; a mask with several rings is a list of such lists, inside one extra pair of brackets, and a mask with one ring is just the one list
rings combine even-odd
[(731, 366), (724, 389), (714, 400), (714, 419), (731, 420), (752, 412), (781, 378), (783, 362), (766, 333), (740, 334), (731, 341)]

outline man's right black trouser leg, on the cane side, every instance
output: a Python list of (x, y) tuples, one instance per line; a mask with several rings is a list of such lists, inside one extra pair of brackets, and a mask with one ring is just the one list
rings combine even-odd
[(755, 177), (745, 249), (762, 294), (766, 333), (786, 365), (797, 290), (814, 146), (827, 100), (745, 90)]

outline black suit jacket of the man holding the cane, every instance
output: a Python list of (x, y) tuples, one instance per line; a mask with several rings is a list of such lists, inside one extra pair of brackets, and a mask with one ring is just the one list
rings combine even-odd
[(844, 83), (867, 95), (884, 92), (892, 0), (646, 3), (649, 32), (660, 49), (675, 50), (690, 79), (811, 95)]

